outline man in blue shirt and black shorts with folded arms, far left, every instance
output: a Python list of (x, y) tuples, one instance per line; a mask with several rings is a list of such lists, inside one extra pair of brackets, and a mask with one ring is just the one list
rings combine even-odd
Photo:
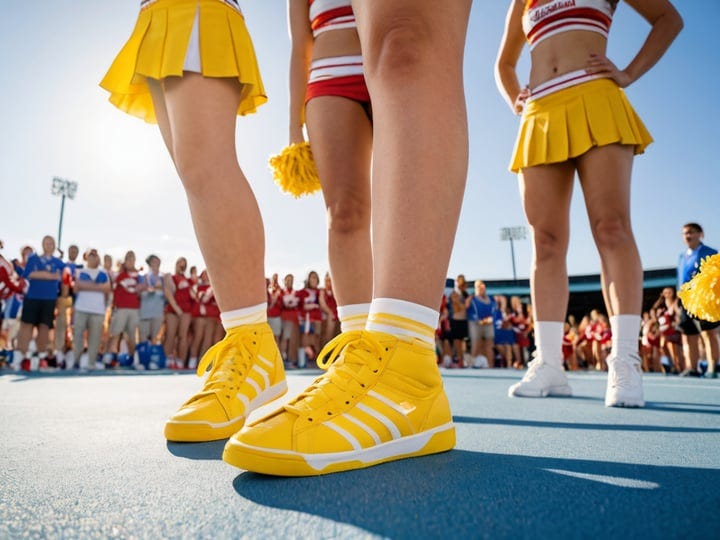
[[(18, 334), (18, 349), (16, 355), (23, 361), (26, 370), (37, 370), (42, 360), (47, 357), (48, 335), (55, 321), (55, 304), (58, 298), (58, 289), (65, 263), (55, 257), (55, 239), (46, 236), (42, 240), (43, 253), (33, 253), (28, 258), (23, 272), (23, 278), (29, 281), (30, 286), (20, 317), (20, 332)], [(37, 356), (27, 358), (33, 328), (37, 327)], [(14, 364), (19, 365), (17, 359)]]

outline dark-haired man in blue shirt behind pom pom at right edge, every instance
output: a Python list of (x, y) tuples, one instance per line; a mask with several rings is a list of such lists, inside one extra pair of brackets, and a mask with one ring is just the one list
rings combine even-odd
[[(678, 260), (678, 290), (690, 281), (700, 268), (700, 263), (706, 257), (715, 255), (716, 249), (702, 243), (704, 232), (698, 223), (686, 223), (682, 229), (683, 240), (687, 249), (680, 254)], [(683, 349), (685, 350), (685, 369), (681, 376), (697, 375), (699, 357), (699, 337), (705, 343), (708, 360), (708, 375), (717, 377), (715, 364), (718, 361), (718, 334), (717, 327), (720, 322), (709, 322), (690, 315), (680, 303), (679, 328), (683, 335)]]

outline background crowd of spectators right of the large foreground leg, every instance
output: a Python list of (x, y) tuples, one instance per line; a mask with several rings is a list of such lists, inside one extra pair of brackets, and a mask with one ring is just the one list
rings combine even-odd
[[(698, 376), (708, 369), (707, 353), (716, 345), (717, 334), (708, 333), (714, 342), (696, 340), (693, 353), (687, 346), (693, 336), (683, 335), (681, 315), (674, 287), (665, 287), (643, 313), (638, 352), (644, 371)], [(535, 351), (532, 307), (519, 296), (489, 296), (481, 280), (470, 290), (460, 275), (443, 296), (436, 337), (438, 361), (446, 368), (524, 369)], [(604, 313), (593, 309), (579, 321), (568, 315), (562, 345), (565, 369), (607, 370), (611, 344)]]

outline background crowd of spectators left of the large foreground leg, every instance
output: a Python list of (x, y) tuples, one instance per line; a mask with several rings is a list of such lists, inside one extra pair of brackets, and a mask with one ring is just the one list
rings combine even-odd
[[(96, 248), (80, 256), (71, 245), (66, 260), (56, 252), (46, 236), (40, 252), (0, 255), (0, 367), (196, 369), (225, 335), (207, 271), (188, 269), (184, 257), (163, 272), (156, 255), (145, 269), (133, 251), (116, 264)], [(306, 367), (339, 332), (330, 276), (322, 288), (314, 271), (298, 289), (291, 274), (267, 285), (268, 321), (286, 366)]]

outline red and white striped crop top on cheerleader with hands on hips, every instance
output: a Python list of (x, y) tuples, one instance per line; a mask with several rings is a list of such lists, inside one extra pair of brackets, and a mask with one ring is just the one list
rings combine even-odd
[(546, 38), (569, 30), (596, 32), (607, 38), (615, 11), (608, 0), (553, 0), (537, 4), (538, 0), (528, 0), (522, 19), (530, 50)]

